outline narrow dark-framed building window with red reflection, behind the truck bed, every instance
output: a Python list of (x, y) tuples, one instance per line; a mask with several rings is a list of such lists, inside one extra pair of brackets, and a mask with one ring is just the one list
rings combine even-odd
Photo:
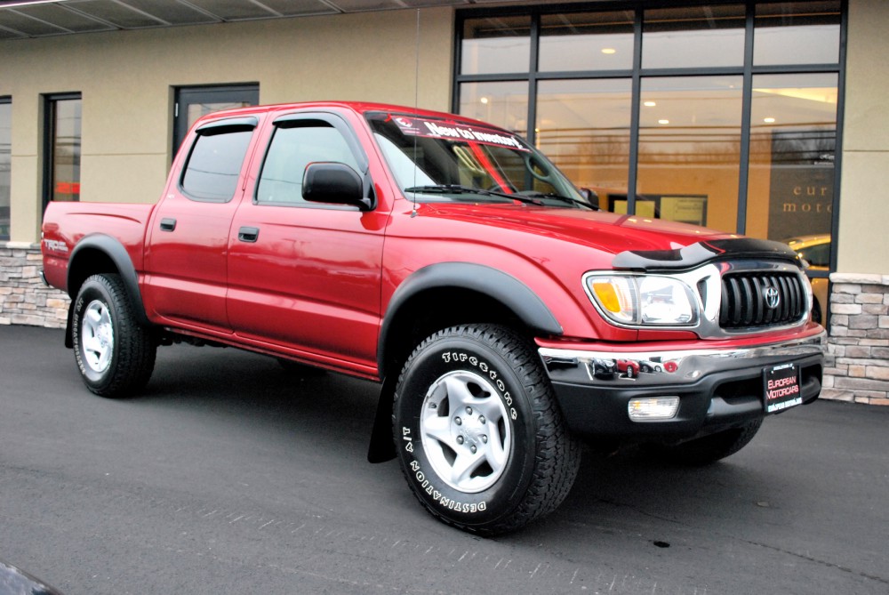
[(80, 200), (82, 103), (80, 93), (45, 97), (44, 206)]

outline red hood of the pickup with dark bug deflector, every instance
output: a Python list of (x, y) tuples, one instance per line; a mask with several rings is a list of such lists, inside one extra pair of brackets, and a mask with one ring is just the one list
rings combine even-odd
[(797, 262), (780, 242), (759, 240), (676, 221), (603, 211), (527, 205), (424, 205), (428, 216), (512, 229), (586, 245), (613, 254), (615, 269), (679, 269), (718, 257)]

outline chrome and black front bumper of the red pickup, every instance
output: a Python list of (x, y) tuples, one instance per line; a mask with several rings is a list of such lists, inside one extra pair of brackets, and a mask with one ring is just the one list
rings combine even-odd
[[(573, 430), (593, 436), (691, 438), (765, 415), (764, 370), (800, 367), (804, 403), (821, 392), (827, 334), (737, 349), (561, 350), (540, 355)], [(679, 397), (669, 420), (632, 422), (631, 399)]]

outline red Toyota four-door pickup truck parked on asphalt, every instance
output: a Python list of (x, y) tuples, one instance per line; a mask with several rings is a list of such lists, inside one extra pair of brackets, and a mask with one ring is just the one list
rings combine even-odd
[(228, 345), (381, 382), (369, 458), (482, 535), (553, 511), (579, 441), (695, 464), (818, 397), (787, 245), (598, 210), (516, 134), (319, 102), (199, 120), (156, 205), (52, 203), (44, 278), (89, 390)]

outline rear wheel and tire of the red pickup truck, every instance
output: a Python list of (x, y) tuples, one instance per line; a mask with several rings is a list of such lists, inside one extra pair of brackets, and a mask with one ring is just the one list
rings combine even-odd
[(128, 397), (148, 383), (156, 342), (136, 319), (117, 275), (84, 281), (71, 320), (74, 355), (86, 387), (100, 397)]

